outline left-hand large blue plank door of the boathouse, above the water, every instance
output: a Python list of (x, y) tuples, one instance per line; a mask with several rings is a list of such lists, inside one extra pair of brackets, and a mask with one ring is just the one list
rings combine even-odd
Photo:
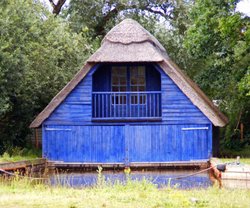
[(43, 156), (49, 160), (124, 163), (124, 126), (44, 127)]

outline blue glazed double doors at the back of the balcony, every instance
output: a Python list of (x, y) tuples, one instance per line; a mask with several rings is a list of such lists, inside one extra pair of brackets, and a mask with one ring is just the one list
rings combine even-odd
[(114, 117), (143, 117), (145, 111), (145, 66), (111, 68), (112, 112)]

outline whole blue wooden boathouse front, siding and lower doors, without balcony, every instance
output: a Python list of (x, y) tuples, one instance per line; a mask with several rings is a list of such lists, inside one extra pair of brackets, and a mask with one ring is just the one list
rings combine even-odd
[[(212, 152), (211, 122), (162, 69), (152, 69), (151, 81), (159, 80), (160, 74), (161, 122), (92, 122), (92, 89), (109, 89), (105, 83), (93, 85), (93, 73), (99, 81), (101, 77), (109, 80), (108, 73), (93, 69), (43, 123), (44, 157), (126, 164), (208, 159)], [(155, 90), (159, 85), (151, 86)]]

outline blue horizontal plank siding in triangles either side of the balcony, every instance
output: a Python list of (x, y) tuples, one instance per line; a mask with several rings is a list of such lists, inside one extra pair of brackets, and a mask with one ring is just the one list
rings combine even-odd
[[(149, 68), (149, 69), (156, 70), (154, 68)], [(210, 124), (211, 122), (207, 119), (207, 117), (195, 105), (193, 105), (193, 103), (178, 88), (178, 86), (160, 68), (158, 68), (157, 70), (161, 73), (161, 91), (162, 91), (161, 123)], [(151, 74), (152, 77), (154, 77), (152, 79), (152, 82), (157, 80), (154, 75), (155, 73)], [(106, 76), (104, 77), (106, 78)], [(104, 80), (108, 81), (107, 79)], [(147, 83), (148, 82), (150, 82), (149, 79), (147, 79)], [(150, 86), (149, 83), (147, 85)], [(63, 101), (63, 103), (45, 121), (45, 124), (57, 124), (57, 125), (93, 124), (92, 73), (89, 73), (79, 83), (79, 85)]]

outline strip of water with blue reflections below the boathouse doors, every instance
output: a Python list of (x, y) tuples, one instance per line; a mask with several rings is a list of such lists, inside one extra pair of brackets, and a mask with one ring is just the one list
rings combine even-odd
[[(156, 184), (158, 188), (164, 187), (177, 187), (180, 189), (193, 189), (193, 188), (207, 188), (212, 185), (209, 178), (209, 172), (203, 172), (195, 176), (177, 179), (183, 175), (190, 175), (197, 172), (194, 171), (132, 171), (130, 174), (131, 180), (148, 180), (153, 184)], [(126, 175), (124, 172), (112, 172), (103, 171), (102, 176), (105, 181), (114, 184), (119, 181), (120, 183), (126, 183)], [(170, 179), (171, 178), (171, 179)], [(52, 185), (64, 185), (69, 187), (90, 187), (96, 185), (98, 180), (97, 172), (85, 172), (85, 173), (60, 173), (50, 176), (50, 182)]]

